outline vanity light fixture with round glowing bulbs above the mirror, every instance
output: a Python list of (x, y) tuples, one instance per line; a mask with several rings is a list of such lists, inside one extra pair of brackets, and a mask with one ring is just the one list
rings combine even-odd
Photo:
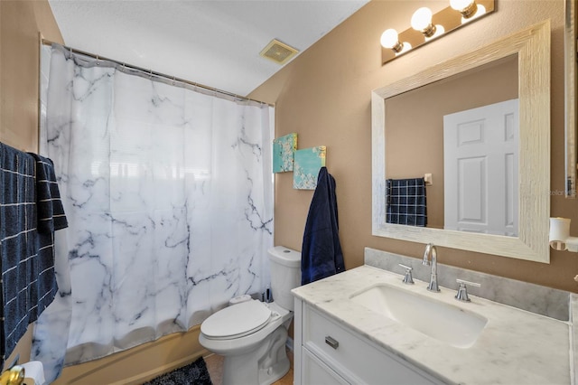
[(433, 14), (427, 7), (415, 11), (411, 27), (402, 33), (389, 28), (381, 35), (381, 62), (392, 61), (426, 42), (452, 32), (494, 11), (495, 0), (450, 0), (450, 6)]

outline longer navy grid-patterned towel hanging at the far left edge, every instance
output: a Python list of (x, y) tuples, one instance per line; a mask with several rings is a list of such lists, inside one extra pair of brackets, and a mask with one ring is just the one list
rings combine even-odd
[[(42, 161), (43, 162), (43, 161)], [(46, 162), (51, 164), (51, 162)], [(62, 222), (48, 224), (50, 232), (38, 230), (38, 191), (46, 172), (32, 155), (0, 143), (0, 262), (2, 308), (0, 309), (0, 358), (14, 351), (56, 294), (53, 230)], [(50, 174), (50, 170), (49, 170)], [(53, 175), (53, 171), (52, 174)], [(51, 176), (50, 176), (51, 177)], [(58, 188), (58, 187), (57, 187)], [(45, 198), (45, 192), (40, 193)], [(58, 216), (60, 209), (52, 210)], [(66, 221), (66, 220), (64, 220)], [(48, 222), (45, 222), (45, 224)]]

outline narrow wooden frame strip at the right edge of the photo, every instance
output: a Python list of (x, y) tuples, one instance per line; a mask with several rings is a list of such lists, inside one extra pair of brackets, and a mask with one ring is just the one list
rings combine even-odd
[(564, 1), (564, 195), (576, 197), (576, 0)]

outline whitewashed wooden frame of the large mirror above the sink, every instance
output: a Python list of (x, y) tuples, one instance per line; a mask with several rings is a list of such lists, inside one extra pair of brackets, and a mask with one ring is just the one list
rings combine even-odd
[[(550, 262), (550, 45), (546, 20), (372, 91), (373, 235)], [(386, 223), (386, 99), (513, 54), (518, 58), (520, 124), (518, 237)]]

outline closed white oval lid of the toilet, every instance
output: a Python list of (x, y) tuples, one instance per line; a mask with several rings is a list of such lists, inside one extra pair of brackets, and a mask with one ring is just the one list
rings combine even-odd
[(210, 315), (200, 332), (213, 339), (238, 338), (264, 327), (271, 317), (271, 310), (260, 301), (247, 301), (225, 307)]

